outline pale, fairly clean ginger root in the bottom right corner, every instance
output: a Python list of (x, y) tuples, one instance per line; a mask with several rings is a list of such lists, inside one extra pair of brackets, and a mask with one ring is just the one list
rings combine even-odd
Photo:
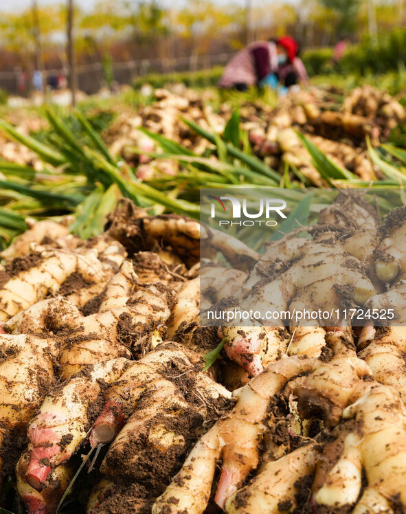
[(331, 509), (347, 506), (354, 514), (403, 512), (406, 410), (400, 394), (379, 385), (348, 406), (343, 418), (354, 418), (354, 429), (344, 439), (342, 454), (324, 484), (315, 491), (316, 504)]

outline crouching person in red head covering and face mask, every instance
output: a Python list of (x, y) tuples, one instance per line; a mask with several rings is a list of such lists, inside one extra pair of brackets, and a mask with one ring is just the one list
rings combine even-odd
[(218, 85), (226, 89), (246, 91), (253, 86), (278, 85), (289, 88), (308, 81), (300, 59), (299, 45), (291, 36), (269, 41), (256, 41), (240, 50), (229, 61)]

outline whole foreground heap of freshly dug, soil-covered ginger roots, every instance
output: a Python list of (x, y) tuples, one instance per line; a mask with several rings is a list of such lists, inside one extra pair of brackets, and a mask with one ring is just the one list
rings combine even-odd
[[(87, 241), (69, 219), (33, 224), (1, 254), (3, 482), (29, 514), (56, 513), (92, 451), (77, 512), (405, 512), (405, 220), (343, 191), (310, 242), (264, 254), (125, 200)], [(201, 266), (201, 237), (229, 267)], [(283, 310), (385, 302), (398, 323), (201, 326), (200, 308), (254, 293)]]

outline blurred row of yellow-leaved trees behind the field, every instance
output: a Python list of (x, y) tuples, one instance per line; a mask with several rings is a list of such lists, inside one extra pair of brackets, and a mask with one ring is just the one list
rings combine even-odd
[[(20, 67), (32, 72), (67, 67), (67, 0), (63, 8), (30, 1), (21, 12), (1, 12), (0, 70)], [(162, 2), (162, 3), (159, 3)], [(246, 43), (247, 7), (215, 0), (188, 0), (163, 3), (163, 0), (99, 0), (92, 8), (81, 9), (76, 2), (74, 13), (74, 48), (78, 65), (91, 65), (91, 80), (112, 80), (112, 63), (144, 60), (144, 71), (181, 71), (186, 56), (189, 66), (204, 64), (205, 54), (231, 53)], [(361, 41), (365, 33), (379, 30), (379, 37), (392, 27), (402, 25), (405, 0), (273, 0), (251, 5), (250, 39), (291, 34), (306, 47), (335, 45), (340, 38)], [(169, 5), (168, 5), (169, 4)], [(168, 7), (166, 6), (168, 5)], [(376, 27), (375, 27), (376, 19)], [(61, 37), (65, 34), (65, 38)], [(42, 61), (42, 64), (41, 64)], [(153, 61), (153, 62), (151, 62)], [(206, 64), (210, 65), (207, 58)], [(155, 67), (155, 68), (154, 68)], [(127, 71), (117, 71), (125, 74)], [(16, 69), (16, 75), (19, 71)], [(133, 67), (127, 73), (140, 73)], [(82, 87), (86, 89), (82, 82)], [(129, 78), (126, 80), (130, 80)]]

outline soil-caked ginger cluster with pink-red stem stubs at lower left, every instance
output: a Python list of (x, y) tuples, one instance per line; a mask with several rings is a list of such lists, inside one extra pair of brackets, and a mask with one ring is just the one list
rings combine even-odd
[(202, 367), (199, 355), (175, 343), (139, 361), (87, 366), (49, 392), (30, 422), (20, 487), (41, 493), (52, 470), (65, 465), (89, 437), (92, 447), (113, 441), (100, 467), (113, 482), (141, 480), (162, 488), (203, 423), (229, 403), (231, 393), (199, 372)]

